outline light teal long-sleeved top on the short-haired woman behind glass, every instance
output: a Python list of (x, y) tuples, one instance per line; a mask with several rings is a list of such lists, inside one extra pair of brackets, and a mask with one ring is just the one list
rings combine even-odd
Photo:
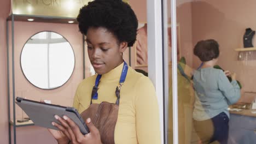
[(201, 68), (194, 77), (195, 104), (193, 118), (204, 121), (225, 112), (229, 116), (228, 105), (241, 97), (236, 80), (229, 82), (223, 70)]

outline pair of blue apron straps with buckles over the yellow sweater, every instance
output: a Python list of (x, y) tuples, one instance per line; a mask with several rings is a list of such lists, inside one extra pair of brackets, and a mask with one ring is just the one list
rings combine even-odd
[[(117, 105), (119, 105), (120, 89), (123, 86), (124, 81), (126, 79), (127, 71), (128, 71), (128, 65), (124, 61), (123, 70), (122, 70), (120, 80), (119, 80), (119, 86), (117, 86), (117, 88), (115, 89), (115, 96), (117, 96), (117, 100), (115, 101), (115, 104), (117, 104)], [(98, 85), (100, 84), (100, 79), (101, 79), (101, 75), (97, 75), (96, 80), (95, 80), (95, 86), (92, 88), (92, 92), (91, 92), (91, 104), (92, 104), (92, 99), (98, 99), (97, 91), (98, 91)]]

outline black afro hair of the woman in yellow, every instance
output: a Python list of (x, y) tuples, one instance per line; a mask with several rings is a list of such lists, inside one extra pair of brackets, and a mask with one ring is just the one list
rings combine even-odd
[(113, 33), (119, 43), (132, 46), (136, 41), (138, 20), (130, 5), (121, 0), (95, 0), (82, 7), (77, 21), (79, 30), (87, 34), (90, 27), (104, 27)]

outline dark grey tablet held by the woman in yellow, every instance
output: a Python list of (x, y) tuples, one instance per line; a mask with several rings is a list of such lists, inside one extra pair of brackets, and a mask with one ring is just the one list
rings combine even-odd
[(58, 128), (54, 127), (51, 122), (60, 124), (60, 122), (57, 121), (54, 116), (58, 115), (63, 117), (65, 115), (71, 118), (78, 125), (82, 134), (85, 135), (89, 133), (89, 129), (86, 126), (83, 118), (79, 115), (78, 111), (74, 109), (74, 107), (40, 103), (38, 101), (20, 97), (16, 97), (15, 103), (19, 105), (24, 112), (26, 112), (27, 116), (30, 117), (35, 125), (59, 130)]

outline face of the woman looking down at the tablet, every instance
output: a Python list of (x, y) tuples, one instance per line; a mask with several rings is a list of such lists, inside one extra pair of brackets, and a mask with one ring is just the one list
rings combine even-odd
[(88, 55), (97, 74), (106, 74), (123, 63), (121, 53), (127, 48), (127, 42), (118, 39), (103, 27), (90, 27), (86, 34)]

